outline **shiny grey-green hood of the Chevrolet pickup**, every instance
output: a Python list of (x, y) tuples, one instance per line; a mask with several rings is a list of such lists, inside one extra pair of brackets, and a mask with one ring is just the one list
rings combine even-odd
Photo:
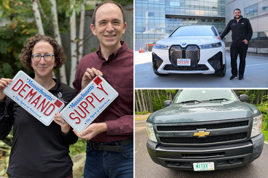
[(249, 118), (260, 114), (258, 108), (241, 101), (175, 104), (148, 116), (149, 123), (190, 123), (234, 118)]

